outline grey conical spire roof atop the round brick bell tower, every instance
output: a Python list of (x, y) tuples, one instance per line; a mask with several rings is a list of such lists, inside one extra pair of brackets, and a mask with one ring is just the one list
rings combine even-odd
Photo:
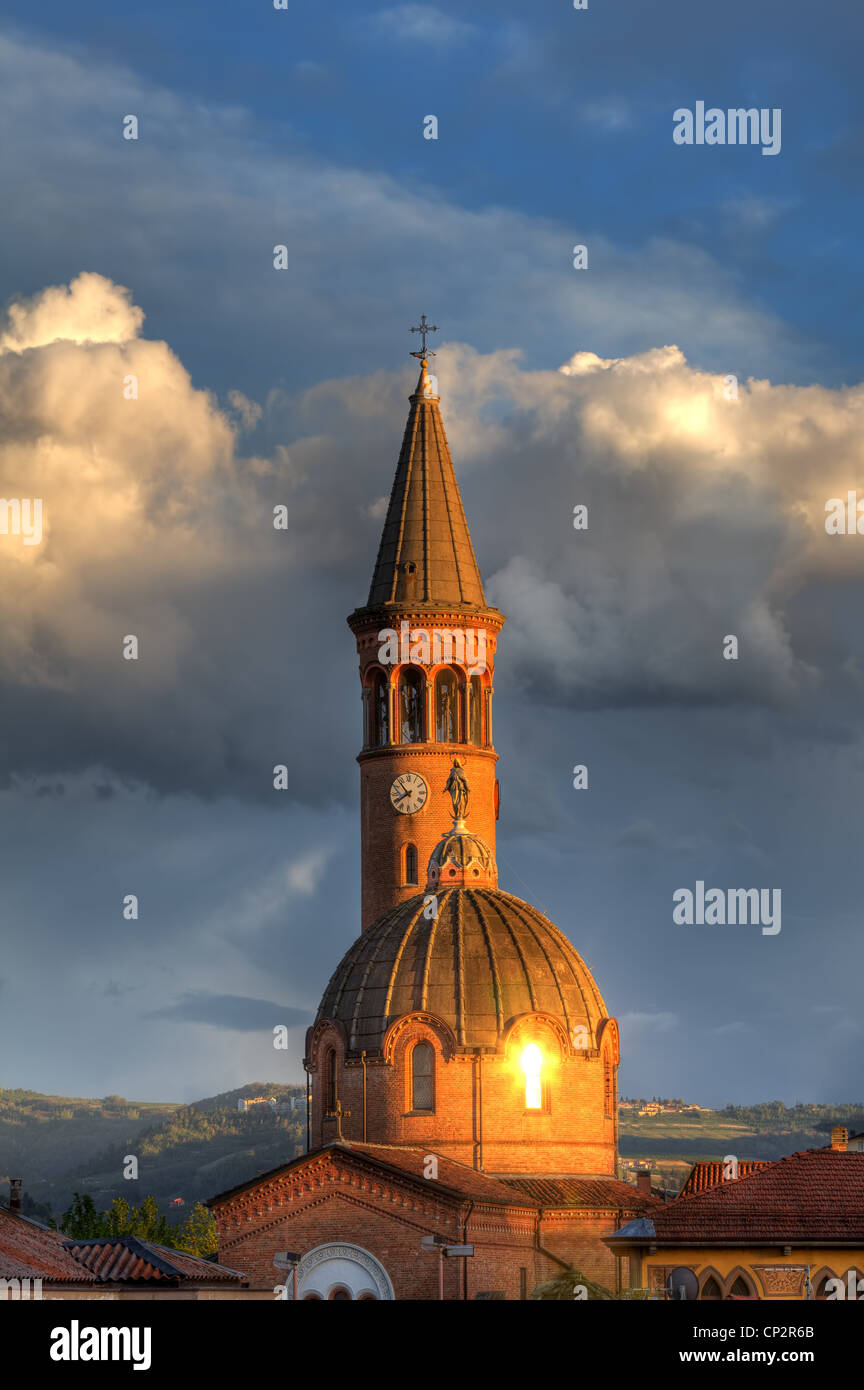
[(485, 607), (483, 581), (425, 357), (410, 400), (368, 606), (415, 602)]

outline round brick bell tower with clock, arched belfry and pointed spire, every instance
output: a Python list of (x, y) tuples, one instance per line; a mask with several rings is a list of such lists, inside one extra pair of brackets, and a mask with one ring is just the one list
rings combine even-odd
[(495, 858), (495, 652), (504, 616), (486, 603), (425, 346), (369, 596), (349, 617), (363, 692), (363, 930), (421, 892), (451, 826), (458, 759), (467, 830)]

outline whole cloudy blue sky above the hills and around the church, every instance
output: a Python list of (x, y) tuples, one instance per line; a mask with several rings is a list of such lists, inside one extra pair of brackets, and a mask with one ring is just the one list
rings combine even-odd
[[(426, 313), (508, 619), (501, 887), (590, 965), (622, 1095), (861, 1099), (864, 539), (825, 503), (864, 498), (863, 28), (7, 0), (0, 491), (44, 514), (0, 535), (1, 1086), (301, 1079)], [(676, 145), (697, 101), (779, 110), (779, 153)], [(781, 931), (675, 923), (697, 881)]]

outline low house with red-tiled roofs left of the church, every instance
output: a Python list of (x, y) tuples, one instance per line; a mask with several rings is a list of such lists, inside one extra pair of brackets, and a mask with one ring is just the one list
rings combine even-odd
[(140, 1298), (147, 1290), (179, 1301), (240, 1298), (236, 1269), (138, 1236), (71, 1240), (19, 1211), (0, 1207), (0, 1301)]

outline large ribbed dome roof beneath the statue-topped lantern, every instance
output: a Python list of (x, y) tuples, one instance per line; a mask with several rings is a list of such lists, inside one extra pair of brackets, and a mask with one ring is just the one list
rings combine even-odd
[(606, 1005), (590, 970), (542, 912), (497, 888), (443, 888), (436, 922), (425, 894), (372, 923), (328, 984), (318, 1019), (338, 1019), (351, 1052), (381, 1049), (404, 1013), (426, 1011), (458, 1047), (496, 1047), (520, 1013), (588, 1026), (596, 1044)]

